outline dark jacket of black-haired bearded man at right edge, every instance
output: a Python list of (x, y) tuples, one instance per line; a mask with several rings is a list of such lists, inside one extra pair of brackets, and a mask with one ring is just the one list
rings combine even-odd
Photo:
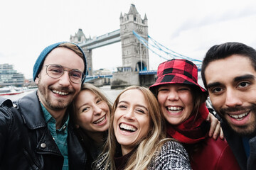
[(238, 160), (238, 164), (242, 170), (255, 170), (256, 169), (256, 136), (249, 140), (250, 145), (250, 157), (247, 159), (245, 149), (242, 145), (242, 138), (230, 129), (225, 121), (220, 120), (221, 128), (225, 135), (225, 139), (228, 141), (228, 145), (232, 149), (235, 158)]

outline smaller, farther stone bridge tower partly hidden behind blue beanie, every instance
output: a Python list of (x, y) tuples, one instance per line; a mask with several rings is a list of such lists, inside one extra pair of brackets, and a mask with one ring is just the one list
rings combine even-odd
[[(70, 35), (70, 42), (74, 42), (76, 44), (80, 44), (82, 42), (85, 42), (87, 40), (92, 40), (92, 38), (86, 38), (85, 34), (82, 32), (82, 29), (78, 29), (78, 33), (75, 33), (75, 35)], [(87, 46), (81, 47), (83, 52), (85, 52), (86, 60), (87, 60), (87, 74), (89, 76), (92, 76), (92, 49), (88, 50)]]

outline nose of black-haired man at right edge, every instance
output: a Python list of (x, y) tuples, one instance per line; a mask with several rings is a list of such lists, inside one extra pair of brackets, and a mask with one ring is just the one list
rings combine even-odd
[(232, 89), (227, 89), (226, 96), (225, 96), (225, 105), (231, 108), (242, 105), (242, 101), (240, 100), (240, 97), (237, 91)]

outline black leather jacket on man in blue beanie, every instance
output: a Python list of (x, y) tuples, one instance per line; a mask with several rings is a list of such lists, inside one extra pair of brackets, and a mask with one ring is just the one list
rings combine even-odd
[[(47, 128), (36, 91), (11, 106), (5, 101), (0, 108), (0, 169), (62, 169), (63, 156)], [(85, 169), (86, 159), (68, 125), (69, 169)]]

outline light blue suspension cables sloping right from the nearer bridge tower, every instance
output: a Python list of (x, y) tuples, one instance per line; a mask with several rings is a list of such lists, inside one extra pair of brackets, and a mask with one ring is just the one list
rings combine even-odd
[[(168, 47), (165, 47), (164, 45), (161, 45), (159, 42), (157, 42), (156, 40), (151, 38), (149, 35), (148, 35), (148, 38), (151, 41), (145, 40), (144, 38), (142, 38), (142, 36), (140, 36), (134, 30), (132, 32), (136, 36), (136, 38), (138, 38), (138, 40), (140, 42), (142, 42), (142, 44), (146, 48), (148, 48), (151, 52), (153, 52), (155, 55), (158, 55), (159, 57), (163, 58), (164, 60), (171, 60), (171, 59), (174, 59), (174, 58), (181, 58), (181, 59), (191, 60), (192, 62), (195, 62), (197, 67), (201, 68), (201, 63), (202, 63), (201, 60), (193, 59), (191, 57), (181, 55), (178, 52), (174, 52), (174, 50), (171, 50)], [(164, 55), (167, 55), (167, 57), (164, 57), (163, 55), (161, 55), (159, 53), (164, 53)], [(171, 59), (169, 57), (171, 57)]]

